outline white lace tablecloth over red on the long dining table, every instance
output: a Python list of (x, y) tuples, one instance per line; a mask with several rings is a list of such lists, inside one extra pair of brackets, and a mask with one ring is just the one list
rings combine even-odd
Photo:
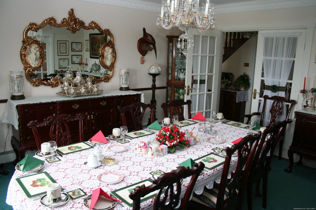
[[(165, 155), (166, 162), (164, 162), (159, 168), (167, 172), (167, 169), (171, 166), (178, 166), (179, 163), (187, 160), (188, 158), (197, 159), (204, 155), (209, 154), (211, 149), (216, 147), (216, 143), (207, 142), (208, 134), (198, 132), (198, 124), (193, 124), (185, 126), (182, 128), (182, 131), (188, 129), (193, 132), (193, 135), (200, 135), (200, 142), (196, 145), (190, 147), (189, 149), (181, 149), (177, 147), (177, 151), (173, 154)], [(221, 131), (224, 134), (226, 142), (220, 144), (220, 147), (224, 148), (227, 142), (232, 142), (239, 137), (244, 137), (249, 132), (248, 129), (236, 127), (233, 125), (227, 125), (222, 123), (216, 123), (214, 128), (215, 130)], [(156, 170), (157, 166), (153, 161), (148, 157), (148, 155), (142, 155), (141, 153), (135, 152), (135, 147), (137, 144), (140, 144), (141, 141), (152, 140), (155, 135), (149, 135), (144, 137), (139, 137), (136, 139), (131, 139), (130, 143), (125, 143), (123, 145), (128, 147), (128, 150), (121, 153), (114, 153), (109, 151), (107, 147), (112, 144), (119, 144), (116, 141), (110, 140), (108, 144), (100, 145), (103, 149), (102, 154), (105, 157), (114, 157), (118, 161), (118, 164), (113, 166), (99, 166), (95, 169), (88, 169), (83, 162), (87, 161), (88, 153), (91, 150), (83, 150), (76, 153), (71, 153), (59, 157), (61, 161), (55, 163), (45, 162), (45, 167), (43, 171), (48, 172), (57, 183), (59, 183), (65, 190), (64, 192), (69, 192), (75, 190), (75, 185), (71, 184), (70, 178), (68, 177), (69, 171), (72, 167), (80, 167), (83, 174), (83, 181), (79, 184), (79, 187), (85, 191), (87, 194), (91, 194), (92, 190), (96, 188), (102, 188), (104, 191), (113, 191), (120, 189), (122, 187), (134, 184), (136, 182), (142, 181), (147, 178), (152, 178), (149, 172)], [(36, 156), (37, 157), (37, 156)], [(39, 159), (40, 158), (37, 157)], [(236, 157), (233, 157), (231, 160), (230, 171), (234, 171), (236, 168)], [(219, 166), (211, 171), (204, 169), (204, 173), (199, 176), (197, 183), (195, 185), (194, 191), (197, 194), (201, 194), (204, 186), (207, 188), (212, 188), (214, 181), (217, 183), (220, 182), (223, 166)], [(115, 171), (119, 172), (124, 176), (123, 180), (117, 184), (104, 184), (98, 181), (97, 176), (105, 171)], [(82, 199), (69, 200), (62, 206), (58, 207), (43, 207), (40, 204), (39, 200), (34, 200), (34, 198), (27, 198), (20, 185), (15, 180), (16, 177), (23, 175), (20, 171), (15, 171), (8, 187), (8, 194), (6, 202), (11, 205), (13, 209), (19, 210), (29, 210), (29, 209), (87, 209), (83, 203)], [(182, 196), (185, 193), (185, 189), (190, 181), (190, 178), (186, 178), (182, 183)], [(123, 202), (122, 202), (123, 203)], [(141, 209), (152, 209), (153, 198), (141, 203)], [(123, 207), (116, 205), (114, 209), (117, 210), (126, 210), (132, 209), (123, 203)]]

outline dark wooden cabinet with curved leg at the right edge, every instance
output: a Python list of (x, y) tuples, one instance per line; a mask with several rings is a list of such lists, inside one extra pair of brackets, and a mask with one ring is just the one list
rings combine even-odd
[(296, 111), (295, 128), (293, 141), (288, 150), (290, 165), (286, 172), (292, 172), (294, 163), (293, 155), (300, 155), (300, 160), (296, 163), (302, 165), (303, 156), (307, 159), (316, 159), (316, 115), (307, 112)]

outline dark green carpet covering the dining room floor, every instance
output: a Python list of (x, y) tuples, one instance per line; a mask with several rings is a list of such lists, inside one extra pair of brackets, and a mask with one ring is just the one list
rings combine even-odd
[[(272, 159), (271, 171), (268, 178), (268, 210), (292, 210), (294, 208), (315, 208), (315, 196), (312, 193), (316, 189), (316, 169), (307, 166), (293, 165), (292, 173), (284, 171), (289, 166), (285, 160)], [(9, 181), (15, 170), (12, 162), (4, 164), (4, 170), (9, 174), (0, 175), (0, 210), (12, 210), (5, 200)], [(262, 183), (261, 183), (262, 186)], [(262, 187), (261, 187), (262, 188)], [(254, 189), (252, 190), (254, 193)], [(262, 192), (262, 189), (260, 190)], [(252, 196), (253, 210), (262, 208), (262, 197)], [(247, 199), (244, 195), (243, 208), (247, 209)]]

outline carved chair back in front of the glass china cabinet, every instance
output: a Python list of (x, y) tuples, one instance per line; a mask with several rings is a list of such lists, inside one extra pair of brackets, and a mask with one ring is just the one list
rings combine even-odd
[[(161, 108), (165, 117), (172, 119), (172, 115), (178, 115), (179, 121), (184, 119), (184, 105), (188, 105), (188, 118), (191, 119), (191, 100), (182, 101), (182, 100), (173, 100), (169, 103), (162, 103)], [(170, 115), (168, 116), (168, 111)]]

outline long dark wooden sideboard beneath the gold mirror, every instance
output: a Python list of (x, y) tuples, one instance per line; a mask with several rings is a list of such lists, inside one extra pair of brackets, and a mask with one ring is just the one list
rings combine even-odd
[[(16, 105), (18, 115), (18, 130), (12, 125), (12, 148), (15, 151), (14, 163), (25, 157), (27, 150), (37, 149), (33, 132), (27, 127), (31, 120), (43, 121), (46, 117), (55, 114), (76, 115), (83, 113), (86, 118), (83, 121), (83, 136), (85, 140), (91, 138), (98, 131), (103, 134), (112, 134), (112, 129), (121, 125), (118, 106), (124, 107), (134, 102), (142, 101), (141, 93), (135, 92), (129, 95), (112, 95), (91, 98), (72, 98), (56, 102), (40, 102)], [(126, 116), (128, 128), (133, 128), (130, 116)], [(79, 141), (78, 122), (70, 122), (71, 143)], [(50, 141), (49, 128), (41, 128), (39, 131), (41, 142)]]

